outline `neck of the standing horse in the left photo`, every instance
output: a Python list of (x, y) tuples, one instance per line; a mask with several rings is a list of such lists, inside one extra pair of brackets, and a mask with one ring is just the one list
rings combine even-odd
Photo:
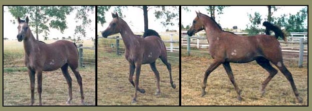
[(34, 48), (36, 47), (36, 40), (33, 37), (32, 33), (30, 33), (28, 35), (28, 39), (23, 40), (23, 42), (25, 54), (29, 55), (32, 51), (34, 51)]

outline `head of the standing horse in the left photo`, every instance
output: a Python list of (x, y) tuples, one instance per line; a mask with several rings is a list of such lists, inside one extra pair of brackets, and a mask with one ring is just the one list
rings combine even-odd
[(21, 42), (22, 40), (24, 39), (27, 39), (27, 37), (29, 36), (29, 34), (31, 33), (30, 32), (30, 29), (29, 29), (29, 26), (28, 26), (28, 16), (26, 17), (26, 20), (21, 20), (19, 17), (17, 18), (17, 21), (18, 21), (18, 34), (17, 34), (17, 40), (19, 42)]

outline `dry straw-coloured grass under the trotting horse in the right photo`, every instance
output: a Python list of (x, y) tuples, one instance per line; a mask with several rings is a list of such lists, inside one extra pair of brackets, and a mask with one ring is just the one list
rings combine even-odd
[(222, 65), (210, 74), (206, 88), (207, 94), (200, 97), (204, 72), (212, 61), (213, 59), (203, 57), (181, 58), (182, 105), (308, 105), (308, 68), (297, 68), (297, 66), (289, 66), (289, 64), (286, 66), (293, 74), (300, 96), (304, 100), (303, 104), (297, 102), (290, 83), (280, 71), (268, 84), (265, 96), (261, 97), (259, 88), (267, 78), (268, 72), (256, 62), (231, 63), (236, 83), (242, 90), (242, 102), (236, 99), (237, 93)]

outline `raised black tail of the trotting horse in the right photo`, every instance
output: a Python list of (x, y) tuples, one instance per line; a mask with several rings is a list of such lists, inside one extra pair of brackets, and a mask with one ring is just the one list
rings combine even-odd
[(268, 21), (265, 21), (262, 23), (263, 26), (266, 27), (266, 34), (267, 35), (270, 35), (270, 31), (274, 31), (275, 33), (275, 37), (276, 39), (278, 39), (279, 37), (283, 38), (284, 41), (287, 41), (287, 38), (286, 38), (286, 34), (281, 30), (280, 27), (276, 26), (276, 25), (273, 25), (272, 23), (268, 22)]

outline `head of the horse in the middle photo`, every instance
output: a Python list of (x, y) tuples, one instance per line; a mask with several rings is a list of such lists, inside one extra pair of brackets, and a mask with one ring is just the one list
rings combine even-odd
[(121, 31), (121, 18), (119, 18), (117, 12), (114, 14), (112, 13), (113, 20), (109, 23), (108, 27), (102, 31), (102, 36), (107, 38), (107, 36), (119, 33)]

